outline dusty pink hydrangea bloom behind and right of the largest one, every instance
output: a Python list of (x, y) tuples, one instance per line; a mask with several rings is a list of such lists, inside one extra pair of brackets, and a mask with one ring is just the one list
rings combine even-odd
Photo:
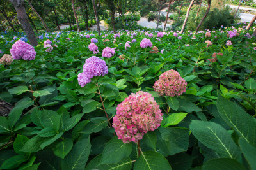
[(179, 72), (171, 69), (159, 76), (153, 86), (160, 96), (180, 96), (186, 91), (186, 81), (180, 76)]

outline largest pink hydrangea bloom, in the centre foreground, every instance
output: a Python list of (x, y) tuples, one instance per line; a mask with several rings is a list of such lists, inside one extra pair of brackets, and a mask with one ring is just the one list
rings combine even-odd
[(147, 92), (132, 93), (116, 107), (113, 127), (124, 143), (138, 142), (148, 131), (160, 126), (163, 113), (154, 97)]

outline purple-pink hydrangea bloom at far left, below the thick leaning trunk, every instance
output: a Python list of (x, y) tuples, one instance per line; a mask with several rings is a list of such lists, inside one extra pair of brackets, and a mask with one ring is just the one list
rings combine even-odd
[(10, 53), (15, 60), (34, 60), (36, 52), (33, 46), (29, 45), (24, 41), (16, 41), (10, 49)]

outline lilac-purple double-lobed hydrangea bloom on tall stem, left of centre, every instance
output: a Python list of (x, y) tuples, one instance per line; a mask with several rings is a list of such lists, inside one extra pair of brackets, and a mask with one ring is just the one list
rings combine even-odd
[(108, 74), (106, 62), (99, 57), (92, 56), (85, 60), (83, 73), (79, 73), (77, 76), (78, 84), (84, 87), (84, 85), (91, 82), (93, 77), (106, 74)]

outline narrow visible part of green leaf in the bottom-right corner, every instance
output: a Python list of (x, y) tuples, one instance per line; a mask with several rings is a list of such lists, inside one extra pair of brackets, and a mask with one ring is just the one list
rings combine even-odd
[(246, 142), (244, 138), (239, 139), (239, 146), (251, 169), (256, 169), (256, 148)]

